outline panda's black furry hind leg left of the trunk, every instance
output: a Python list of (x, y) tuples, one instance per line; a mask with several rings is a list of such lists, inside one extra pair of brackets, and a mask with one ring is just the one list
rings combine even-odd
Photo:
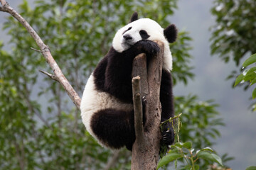
[(92, 131), (107, 147), (119, 149), (126, 146), (132, 150), (135, 141), (134, 112), (104, 109), (91, 119)]

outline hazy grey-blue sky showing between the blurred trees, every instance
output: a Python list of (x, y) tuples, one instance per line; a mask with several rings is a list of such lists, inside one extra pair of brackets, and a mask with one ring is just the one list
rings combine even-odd
[[(30, 0), (33, 1), (33, 0)], [(18, 0), (9, 1), (16, 8)], [(216, 140), (213, 149), (222, 155), (228, 153), (235, 157), (228, 162), (233, 170), (245, 169), (256, 164), (256, 113), (248, 109), (251, 101), (251, 90), (243, 91), (242, 88), (232, 88), (232, 80), (226, 81), (235, 64), (225, 64), (218, 56), (210, 56), (210, 26), (215, 24), (210, 13), (213, 0), (179, 0), (178, 9), (171, 17), (171, 23), (176, 24), (178, 30), (188, 31), (193, 38), (191, 66), (195, 67), (195, 79), (188, 82), (187, 86), (178, 84), (174, 88), (174, 95), (196, 94), (201, 101), (214, 99), (218, 103), (225, 127), (219, 128), (222, 137)], [(8, 13), (0, 13), (0, 28)], [(0, 40), (7, 40), (6, 32), (0, 31)], [(242, 63), (242, 62), (241, 62)]]

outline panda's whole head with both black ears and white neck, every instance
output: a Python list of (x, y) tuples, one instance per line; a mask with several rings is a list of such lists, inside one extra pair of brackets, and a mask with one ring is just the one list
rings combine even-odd
[(169, 42), (175, 42), (177, 29), (174, 24), (167, 28), (149, 18), (138, 19), (138, 13), (132, 15), (130, 23), (120, 28), (114, 35), (112, 46), (117, 52), (123, 52), (140, 40), (159, 40), (164, 43), (164, 68), (172, 69), (172, 57)]

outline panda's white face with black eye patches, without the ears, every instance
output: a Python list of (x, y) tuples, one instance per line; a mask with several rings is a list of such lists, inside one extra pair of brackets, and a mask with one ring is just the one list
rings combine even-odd
[(140, 40), (160, 40), (164, 38), (164, 29), (156, 21), (142, 18), (119, 29), (113, 39), (113, 47), (117, 52), (123, 52)]

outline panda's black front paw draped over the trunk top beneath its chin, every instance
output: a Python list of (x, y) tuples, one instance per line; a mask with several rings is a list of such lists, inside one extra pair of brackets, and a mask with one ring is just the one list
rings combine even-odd
[(146, 55), (150, 56), (156, 55), (160, 51), (159, 45), (151, 40), (140, 40), (135, 45), (137, 46), (138, 50), (142, 50), (142, 52), (145, 52)]

